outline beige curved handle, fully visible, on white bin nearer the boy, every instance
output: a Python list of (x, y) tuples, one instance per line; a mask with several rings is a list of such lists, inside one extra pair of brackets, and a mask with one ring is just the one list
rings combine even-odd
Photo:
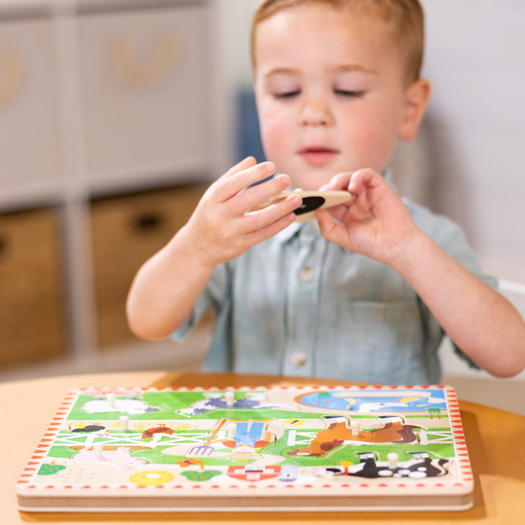
[(120, 38), (111, 44), (113, 69), (123, 85), (134, 90), (157, 87), (174, 71), (180, 46), (175, 36), (157, 38), (151, 56), (139, 62), (129, 38)]

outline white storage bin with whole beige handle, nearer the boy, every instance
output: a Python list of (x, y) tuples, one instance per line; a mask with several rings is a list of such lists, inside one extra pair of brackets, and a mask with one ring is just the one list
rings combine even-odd
[(205, 6), (83, 14), (79, 23), (89, 177), (206, 159)]

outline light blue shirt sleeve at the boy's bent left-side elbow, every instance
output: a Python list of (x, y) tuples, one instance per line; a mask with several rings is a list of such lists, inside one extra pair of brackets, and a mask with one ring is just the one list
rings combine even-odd
[(211, 307), (216, 312), (221, 309), (221, 305), (228, 297), (229, 275), (228, 265), (223, 264), (215, 267), (207, 285), (193, 306), (190, 318), (172, 333), (172, 339), (183, 342)]

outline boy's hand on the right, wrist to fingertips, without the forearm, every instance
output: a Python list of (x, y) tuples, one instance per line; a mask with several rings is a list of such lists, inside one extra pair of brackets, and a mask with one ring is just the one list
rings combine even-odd
[(348, 190), (354, 196), (349, 202), (317, 212), (326, 239), (390, 266), (396, 259), (400, 262), (419, 229), (381, 175), (372, 169), (342, 173), (320, 190)]

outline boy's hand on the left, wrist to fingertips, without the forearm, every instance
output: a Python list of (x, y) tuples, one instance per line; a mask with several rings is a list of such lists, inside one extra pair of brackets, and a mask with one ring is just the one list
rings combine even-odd
[(232, 260), (293, 223), (293, 210), (301, 205), (298, 195), (246, 213), (290, 186), (290, 178), (279, 175), (248, 188), (274, 172), (272, 162), (257, 164), (248, 157), (211, 184), (181, 231), (200, 264), (214, 267)]

